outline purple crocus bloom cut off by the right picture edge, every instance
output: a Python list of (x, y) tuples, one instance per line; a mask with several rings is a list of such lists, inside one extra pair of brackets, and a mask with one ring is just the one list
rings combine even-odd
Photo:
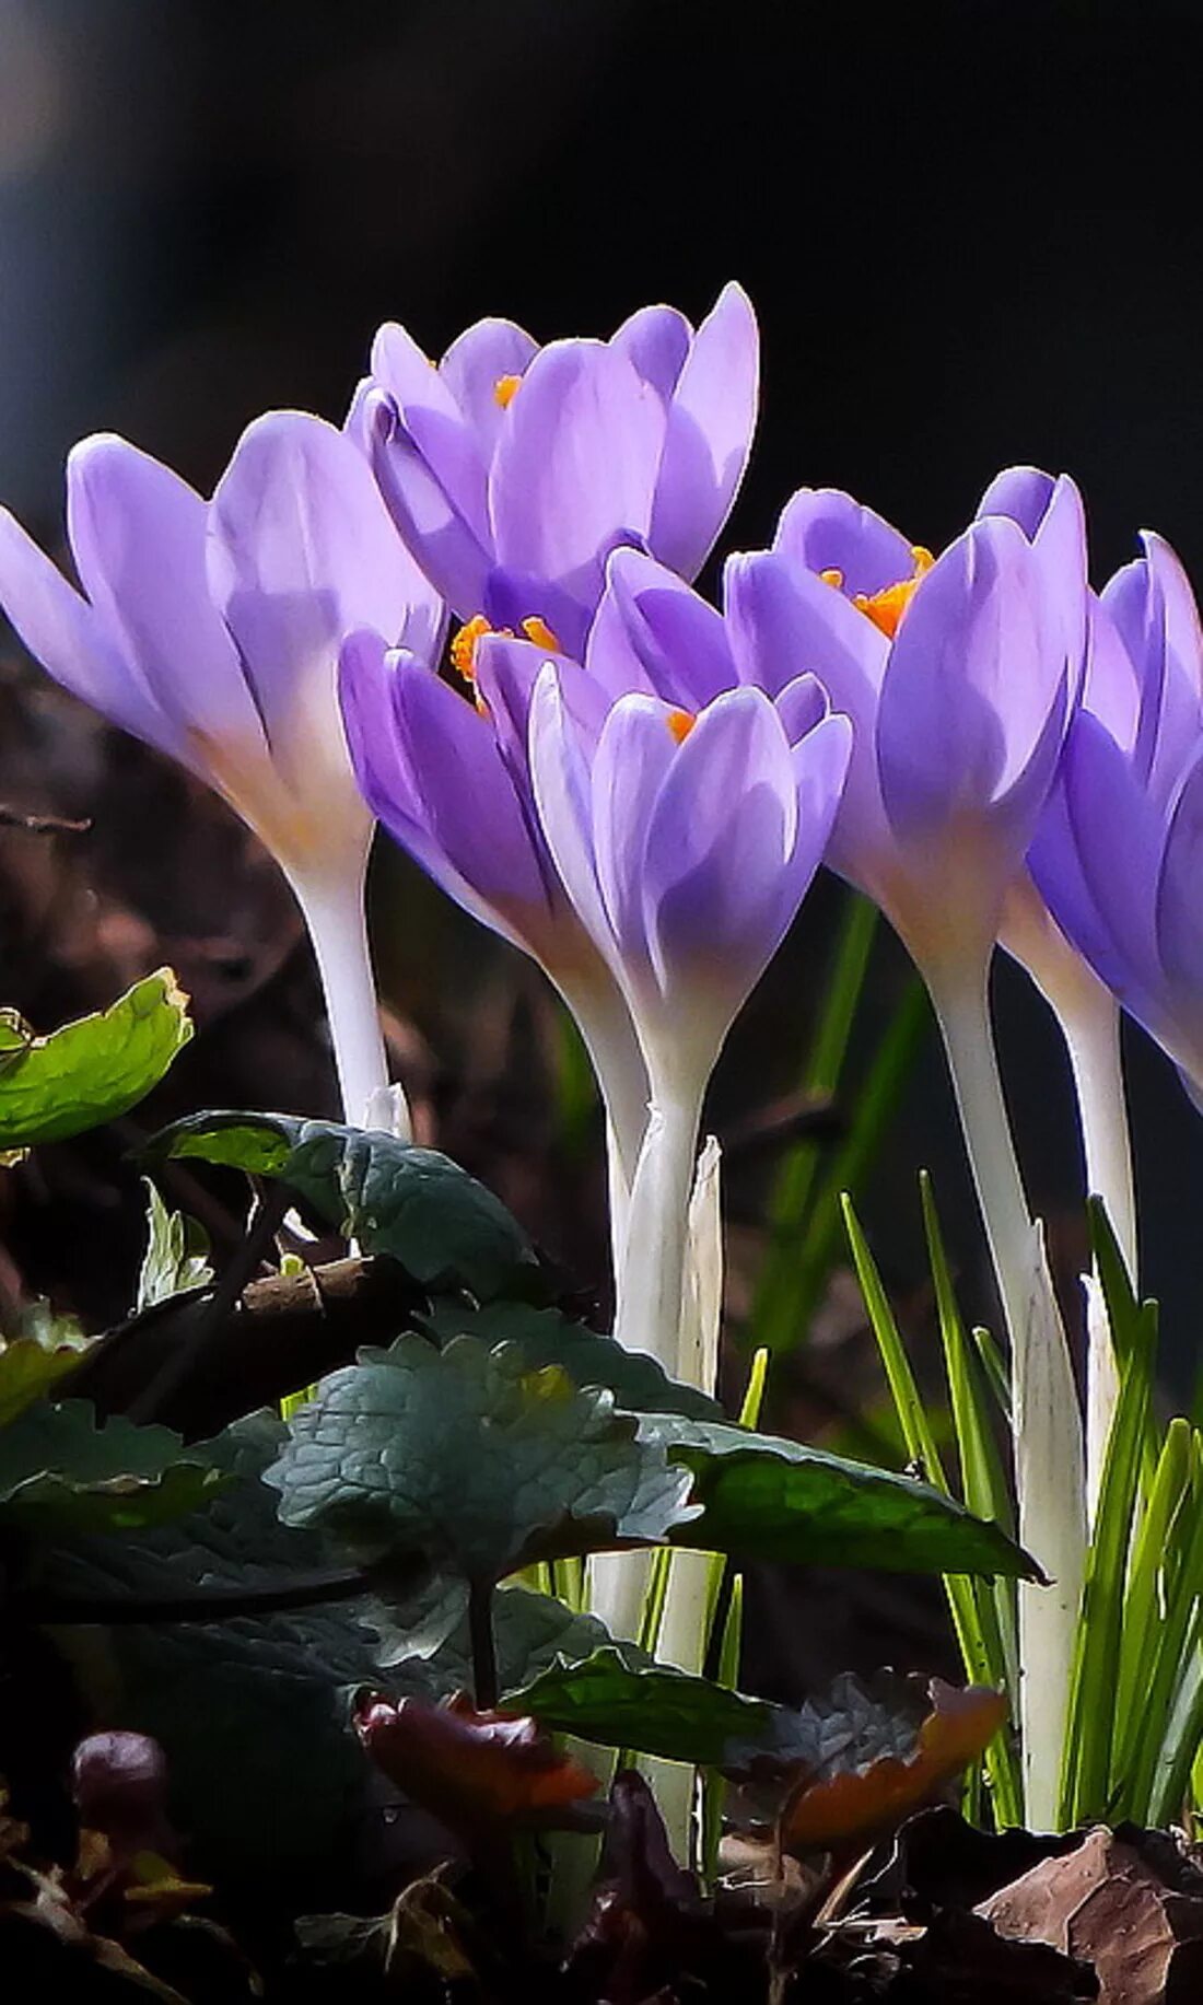
[(1091, 608), (1083, 704), (1031, 868), (1063, 932), (1203, 1091), (1203, 640), (1169, 543)]

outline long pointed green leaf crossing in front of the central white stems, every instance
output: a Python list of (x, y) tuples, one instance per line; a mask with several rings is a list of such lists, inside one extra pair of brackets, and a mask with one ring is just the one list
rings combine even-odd
[(674, 1414), (642, 1416), (640, 1440), (694, 1474), (704, 1514), (672, 1534), (678, 1546), (808, 1566), (1039, 1578), (1000, 1526), (910, 1476)]

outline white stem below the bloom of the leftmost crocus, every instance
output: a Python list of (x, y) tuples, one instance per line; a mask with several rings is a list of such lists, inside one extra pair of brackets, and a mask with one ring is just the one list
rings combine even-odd
[(389, 1087), (363, 910), (365, 868), (337, 878), (291, 878), (321, 974), (343, 1115), (351, 1127), (363, 1125), (373, 1097)]

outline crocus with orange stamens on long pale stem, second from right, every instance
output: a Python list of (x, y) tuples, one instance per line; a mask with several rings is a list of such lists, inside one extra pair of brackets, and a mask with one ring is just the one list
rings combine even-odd
[[(810, 622), (808, 662), (856, 726), (828, 860), (882, 906), (926, 978), (1011, 1335), (1021, 1538), (1055, 1580), (1021, 1590), (1027, 1813), (1039, 1827), (1057, 1813), (1085, 1566), (1083, 1428), (986, 980), (1079, 698), (1087, 581), (1073, 483), (1049, 483), (1025, 523), (1009, 493), (1021, 475), (1002, 479), (940, 557), (848, 495), (808, 489), (786, 507), (776, 551)], [(744, 618), (770, 632), (776, 573), (750, 559), (736, 589)]]

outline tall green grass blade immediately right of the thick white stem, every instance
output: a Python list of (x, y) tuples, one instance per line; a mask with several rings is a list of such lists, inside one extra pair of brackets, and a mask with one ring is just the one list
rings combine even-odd
[(1129, 1550), (1139, 1510), (1141, 1448), (1153, 1395), (1157, 1317), (1139, 1311), (1119, 1365), (1121, 1383), (1075, 1638), (1069, 1726), (1061, 1770), (1063, 1829), (1103, 1819), (1109, 1807), (1115, 1694), (1123, 1648)]

